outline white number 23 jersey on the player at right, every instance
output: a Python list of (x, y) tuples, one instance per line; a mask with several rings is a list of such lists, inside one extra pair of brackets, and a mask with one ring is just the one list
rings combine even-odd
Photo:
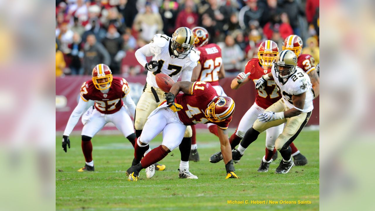
[(275, 78), (276, 86), (278, 86), (279, 91), (285, 104), (291, 109), (294, 107), (292, 101), (292, 95), (299, 95), (306, 92), (305, 106), (303, 107), (303, 112), (311, 112), (314, 109), (312, 100), (314, 99), (312, 84), (309, 76), (299, 67), (296, 67), (297, 71), (294, 72), (291, 77), (288, 78), (287, 82), (282, 84), (276, 77), (275, 64), (271, 68), (273, 78)]

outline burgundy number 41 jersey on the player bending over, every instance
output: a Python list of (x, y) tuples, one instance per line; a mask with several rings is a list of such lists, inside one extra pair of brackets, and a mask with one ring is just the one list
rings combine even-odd
[(222, 122), (211, 122), (204, 115), (208, 104), (210, 104), (210, 102), (212, 102), (216, 96), (218, 96), (216, 90), (210, 83), (206, 83), (204, 81), (194, 82), (193, 86), (191, 87), (191, 95), (178, 94), (175, 98), (175, 102), (183, 107), (183, 109), (177, 113), (178, 118), (180, 118), (180, 121), (184, 125), (212, 123), (222, 129), (228, 128), (229, 122), (232, 120), (232, 116)]

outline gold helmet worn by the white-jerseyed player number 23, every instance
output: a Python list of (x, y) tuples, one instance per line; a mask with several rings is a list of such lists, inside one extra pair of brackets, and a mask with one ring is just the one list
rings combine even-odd
[(291, 50), (281, 51), (276, 57), (275, 72), (281, 83), (296, 72), (297, 56)]

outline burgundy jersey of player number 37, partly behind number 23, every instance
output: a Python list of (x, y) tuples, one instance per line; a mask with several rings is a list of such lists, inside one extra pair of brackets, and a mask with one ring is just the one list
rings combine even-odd
[[(259, 59), (251, 59), (245, 66), (245, 73), (250, 72), (249, 78), (257, 83), (257, 80), (267, 73), (271, 72), (271, 69), (264, 70), (259, 63)], [(267, 80), (263, 88), (261, 87), (257, 95), (255, 96), (255, 103), (267, 109), (270, 105), (274, 104), (281, 98), (278, 88), (274, 80)]]

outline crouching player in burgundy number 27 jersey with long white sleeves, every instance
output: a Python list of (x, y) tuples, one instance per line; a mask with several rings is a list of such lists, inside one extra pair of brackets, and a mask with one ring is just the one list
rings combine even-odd
[(128, 95), (129, 92), (127, 81), (124, 78), (113, 77), (111, 69), (105, 64), (96, 65), (92, 72), (92, 80), (82, 84), (81, 97), (66, 125), (62, 143), (63, 150), (67, 152), (67, 146), (70, 148), (69, 135), (77, 125), (89, 99), (95, 101), (93, 109), (89, 109), (87, 112), (88, 118), (83, 118), (81, 146), (86, 164), (78, 172), (94, 171), (91, 139), (108, 122), (112, 122), (130, 143), (135, 145), (133, 123), (123, 106), (125, 104), (131, 115), (134, 116), (135, 103)]

